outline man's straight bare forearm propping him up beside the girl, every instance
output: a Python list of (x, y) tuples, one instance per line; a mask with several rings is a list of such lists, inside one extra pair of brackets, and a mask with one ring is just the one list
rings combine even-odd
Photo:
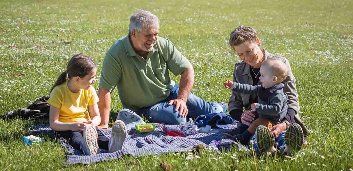
[(107, 89), (100, 88), (98, 90), (98, 108), (101, 115), (101, 124), (108, 126), (110, 115), (110, 92)]

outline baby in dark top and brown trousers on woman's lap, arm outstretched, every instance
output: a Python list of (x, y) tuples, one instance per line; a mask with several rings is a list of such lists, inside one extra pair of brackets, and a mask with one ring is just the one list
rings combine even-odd
[(252, 86), (239, 84), (229, 79), (224, 83), (225, 87), (243, 94), (257, 94), (257, 103), (251, 104), (251, 111), (258, 113), (258, 119), (250, 123), (241, 123), (238, 128), (232, 131), (234, 141), (246, 145), (250, 137), (255, 134), (257, 126), (264, 125), (268, 128), (282, 122), (287, 113), (287, 96), (283, 93), (287, 77), (287, 66), (281, 59), (271, 58), (263, 61), (260, 68), (260, 82), (262, 85)]

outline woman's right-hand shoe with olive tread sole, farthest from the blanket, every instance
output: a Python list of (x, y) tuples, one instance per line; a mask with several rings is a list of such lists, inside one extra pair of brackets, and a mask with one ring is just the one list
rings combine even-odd
[(286, 148), (283, 154), (295, 155), (303, 146), (304, 134), (300, 125), (297, 123), (291, 124), (285, 134)]

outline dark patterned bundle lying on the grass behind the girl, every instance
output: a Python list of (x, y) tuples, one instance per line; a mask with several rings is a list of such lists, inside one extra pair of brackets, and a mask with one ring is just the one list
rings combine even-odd
[(49, 95), (36, 99), (31, 105), (19, 108), (5, 114), (7, 118), (21, 117), (25, 119), (49, 120), (50, 105), (48, 104)]

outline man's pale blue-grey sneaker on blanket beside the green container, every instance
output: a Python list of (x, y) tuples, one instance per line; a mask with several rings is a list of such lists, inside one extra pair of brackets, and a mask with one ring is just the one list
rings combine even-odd
[(119, 111), (116, 120), (124, 122), (127, 129), (135, 128), (135, 124), (145, 124), (138, 114), (128, 109), (122, 109)]

